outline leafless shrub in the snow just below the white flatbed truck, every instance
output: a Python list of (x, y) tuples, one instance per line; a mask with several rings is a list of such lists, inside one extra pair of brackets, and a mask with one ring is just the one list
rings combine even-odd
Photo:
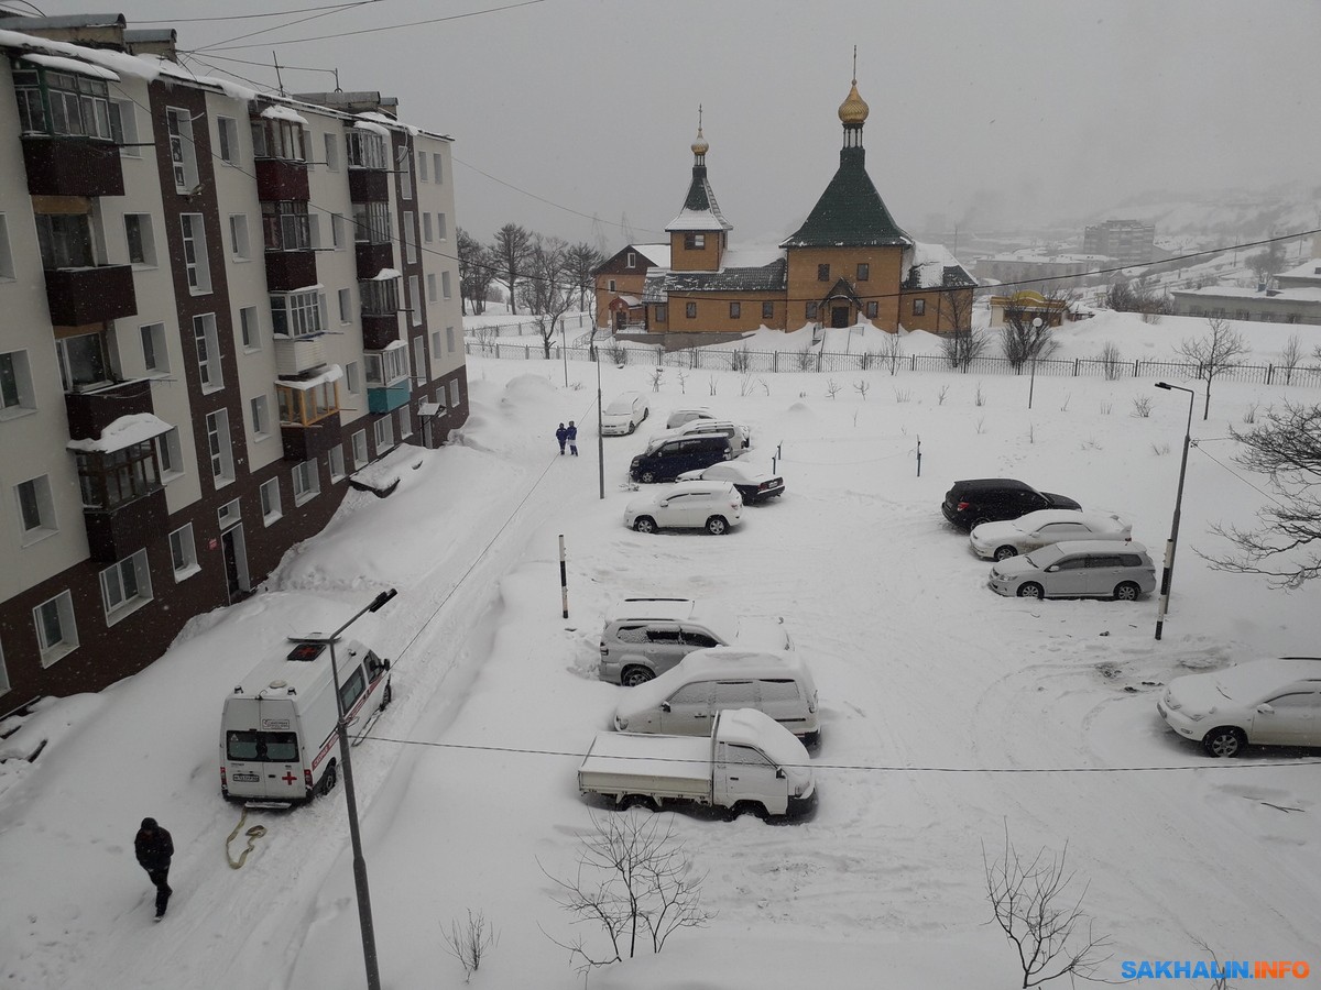
[(605, 935), (608, 945), (601, 948), (589, 948), (583, 936), (568, 942), (547, 936), (569, 950), (581, 972), (633, 958), (647, 945), (660, 952), (680, 928), (703, 928), (715, 917), (701, 908), (705, 875), (694, 871), (668, 817), (593, 814), (592, 828), (573, 878), (546, 874), (559, 888), (555, 903), (573, 915), (573, 923)]

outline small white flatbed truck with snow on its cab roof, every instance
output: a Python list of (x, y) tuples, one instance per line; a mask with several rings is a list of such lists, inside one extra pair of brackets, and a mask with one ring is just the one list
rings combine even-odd
[(579, 767), (579, 791), (617, 805), (687, 801), (795, 817), (816, 804), (807, 750), (756, 709), (725, 709), (711, 735), (600, 733)]

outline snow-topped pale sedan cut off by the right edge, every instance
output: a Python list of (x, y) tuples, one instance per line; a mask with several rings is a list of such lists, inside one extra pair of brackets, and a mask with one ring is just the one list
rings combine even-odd
[(1248, 744), (1321, 746), (1321, 657), (1250, 660), (1176, 677), (1156, 710), (1211, 756), (1239, 756)]

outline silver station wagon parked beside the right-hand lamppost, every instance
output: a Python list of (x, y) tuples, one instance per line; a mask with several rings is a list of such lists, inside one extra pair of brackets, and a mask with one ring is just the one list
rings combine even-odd
[(992, 591), (1018, 598), (1116, 598), (1132, 602), (1156, 589), (1156, 565), (1140, 543), (1053, 543), (991, 568)]

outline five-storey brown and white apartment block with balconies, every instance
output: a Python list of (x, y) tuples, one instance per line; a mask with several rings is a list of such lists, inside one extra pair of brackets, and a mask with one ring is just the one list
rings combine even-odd
[(468, 416), (450, 140), (170, 53), (0, 20), (0, 714), (141, 669)]

